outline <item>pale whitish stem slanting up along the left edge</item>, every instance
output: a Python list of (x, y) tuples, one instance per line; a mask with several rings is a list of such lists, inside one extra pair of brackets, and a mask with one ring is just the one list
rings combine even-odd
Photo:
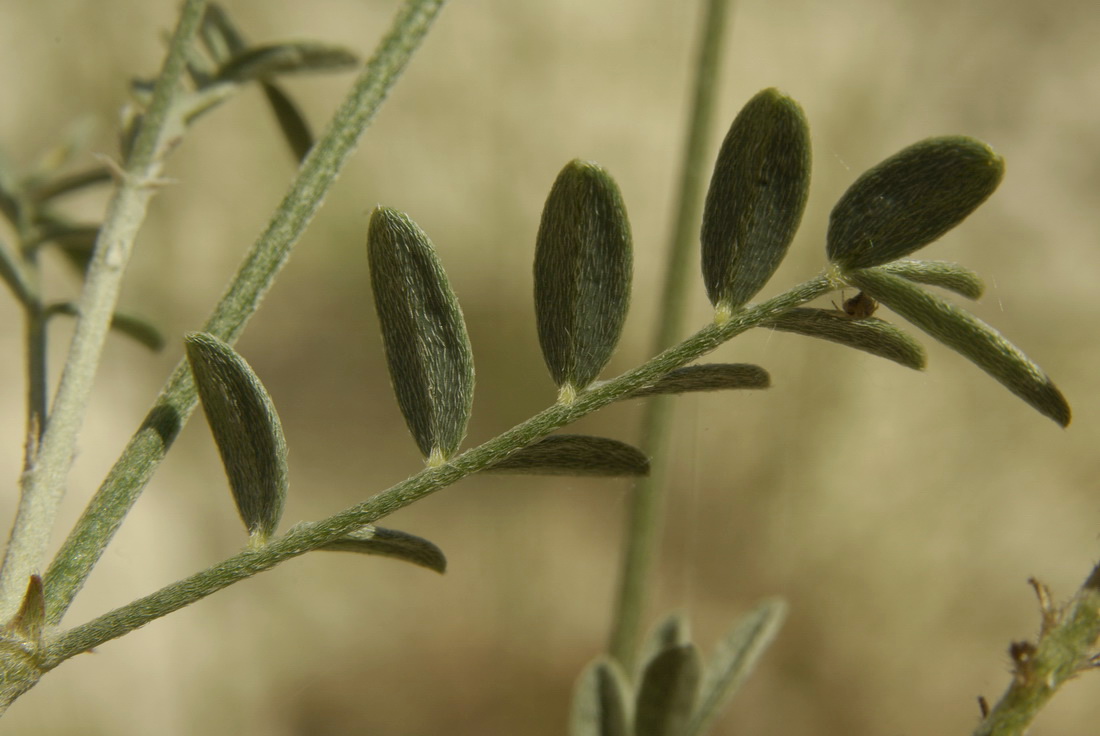
[(173, 122), (170, 112), (185, 69), (187, 45), (205, 7), (205, 0), (187, 0), (184, 6), (133, 154), (96, 241), (96, 254), (80, 295), (79, 317), (53, 410), (37, 452), (21, 477), (19, 510), (0, 570), (0, 619), (7, 619), (18, 609), (28, 580), (38, 570), (50, 540), (122, 275), (164, 163)]

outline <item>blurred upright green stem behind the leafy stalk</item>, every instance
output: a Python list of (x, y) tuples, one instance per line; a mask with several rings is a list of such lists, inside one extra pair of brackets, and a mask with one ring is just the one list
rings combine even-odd
[[(691, 255), (696, 252), (694, 246), (697, 240), (698, 213), (702, 209), (707, 142), (714, 127), (715, 90), (718, 84), (723, 41), (726, 37), (729, 4), (729, 0), (707, 0), (705, 6), (695, 66), (691, 121), (680, 171), (675, 223), (664, 270), (661, 306), (658, 310), (660, 325), (654, 336), (652, 351), (654, 353), (672, 344), (683, 330), (684, 310), (689, 304), (684, 298), (684, 292), (691, 283), (688, 278)], [(653, 397), (647, 404), (642, 417), (641, 449), (650, 457), (651, 471), (649, 475), (635, 483), (630, 496), (609, 645), (612, 656), (627, 672), (634, 669), (638, 634), (646, 601), (649, 597), (653, 559), (662, 529), (664, 466), (671, 429), (672, 399), (671, 396)]]

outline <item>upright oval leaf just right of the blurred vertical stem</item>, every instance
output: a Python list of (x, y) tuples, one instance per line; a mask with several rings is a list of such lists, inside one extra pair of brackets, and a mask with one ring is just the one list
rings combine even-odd
[(759, 292), (794, 239), (810, 190), (810, 129), (776, 89), (748, 101), (722, 143), (703, 208), (703, 279), (716, 308)]

